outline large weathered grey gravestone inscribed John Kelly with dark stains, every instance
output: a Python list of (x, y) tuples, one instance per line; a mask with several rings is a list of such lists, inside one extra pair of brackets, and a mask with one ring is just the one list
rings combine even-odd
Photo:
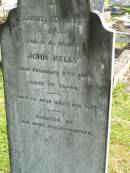
[(87, 0), (19, 0), (2, 31), (11, 173), (104, 173), (112, 38)]

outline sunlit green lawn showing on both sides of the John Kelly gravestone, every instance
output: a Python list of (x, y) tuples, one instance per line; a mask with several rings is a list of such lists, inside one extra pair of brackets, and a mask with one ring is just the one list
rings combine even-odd
[[(0, 173), (9, 173), (9, 157), (4, 110), (2, 73), (0, 71)], [(130, 94), (118, 83), (113, 91), (113, 110), (109, 173), (130, 172)]]

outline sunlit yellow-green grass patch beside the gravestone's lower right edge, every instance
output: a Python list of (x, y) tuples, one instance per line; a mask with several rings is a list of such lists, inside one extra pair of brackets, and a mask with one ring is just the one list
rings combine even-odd
[(130, 94), (126, 88), (118, 83), (113, 91), (110, 173), (130, 172)]

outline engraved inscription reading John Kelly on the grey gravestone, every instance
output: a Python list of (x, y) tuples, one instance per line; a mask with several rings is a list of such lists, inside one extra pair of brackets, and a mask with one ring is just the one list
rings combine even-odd
[[(79, 3), (83, 7), (86, 5), (84, 0)], [(30, 28), (24, 38), (28, 51), (23, 55), (28, 66), (23, 63), (16, 69), (21, 79), (28, 76), (23, 83), (29, 92), (23, 92), (19, 85), (21, 89), (17, 99), (20, 105), (32, 105), (29, 120), (23, 116), (21, 122), (31, 127), (91, 135), (85, 126), (79, 125), (80, 121), (68, 116), (72, 114), (75, 119), (80, 119), (80, 116), (82, 119), (86, 112), (94, 116), (97, 109), (95, 105), (86, 105), (86, 96), (82, 96), (86, 92), (86, 82), (93, 85), (87, 70), (82, 69), (82, 65), (87, 64), (84, 54), (87, 38), (83, 37), (88, 29), (87, 19), (84, 15), (58, 15), (58, 2), (55, 0), (47, 1), (46, 5), (51, 14), (41, 16), (26, 11), (21, 15), (21, 28), (25, 32)], [(37, 96), (33, 93), (37, 93)], [(79, 101), (75, 100), (75, 96)]]

